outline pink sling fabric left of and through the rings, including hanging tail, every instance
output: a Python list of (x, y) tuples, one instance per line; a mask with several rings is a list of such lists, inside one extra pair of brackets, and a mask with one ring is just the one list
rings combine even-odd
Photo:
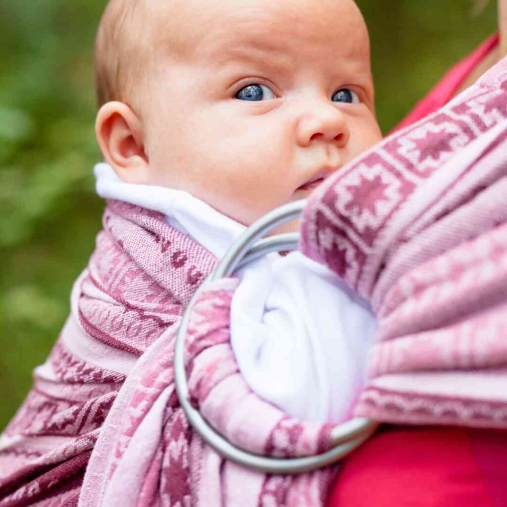
[[(332, 468), (284, 478), (225, 463), (179, 407), (175, 332), (214, 257), (156, 212), (110, 201), (103, 223), (61, 336), (1, 437), (0, 506), (74, 506), (80, 495), (80, 505), (122, 507), (323, 505)], [(327, 450), (329, 426), (290, 419), (246, 386), (229, 343), (237, 282), (224, 283), (190, 322), (193, 403), (253, 452)]]

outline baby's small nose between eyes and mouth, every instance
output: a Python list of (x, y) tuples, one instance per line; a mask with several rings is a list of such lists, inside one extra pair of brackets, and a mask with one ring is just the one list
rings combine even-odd
[(323, 102), (314, 103), (310, 111), (302, 115), (298, 125), (298, 142), (307, 147), (312, 141), (322, 140), (344, 147), (350, 137), (346, 117), (331, 100)]

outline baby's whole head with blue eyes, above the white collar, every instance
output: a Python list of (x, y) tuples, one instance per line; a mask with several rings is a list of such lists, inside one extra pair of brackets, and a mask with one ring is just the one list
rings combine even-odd
[(352, 0), (112, 0), (96, 48), (105, 160), (243, 224), (380, 140)]

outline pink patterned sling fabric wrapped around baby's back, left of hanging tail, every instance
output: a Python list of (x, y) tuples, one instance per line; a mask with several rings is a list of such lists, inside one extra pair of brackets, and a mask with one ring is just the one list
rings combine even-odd
[(71, 314), (0, 437), (0, 505), (77, 505), (100, 427), (140, 356), (215, 265), (163, 215), (111, 201)]

